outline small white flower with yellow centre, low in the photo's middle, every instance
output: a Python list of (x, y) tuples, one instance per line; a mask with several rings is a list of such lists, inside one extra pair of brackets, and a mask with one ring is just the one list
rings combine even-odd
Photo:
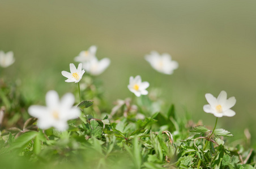
[(133, 92), (137, 97), (140, 95), (147, 95), (148, 91), (146, 88), (150, 86), (148, 82), (142, 82), (142, 78), (140, 75), (137, 75), (135, 78), (130, 77), (128, 88), (131, 92)]

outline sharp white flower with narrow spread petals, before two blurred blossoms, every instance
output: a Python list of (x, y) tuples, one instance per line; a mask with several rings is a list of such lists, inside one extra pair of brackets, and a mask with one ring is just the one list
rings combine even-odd
[(78, 65), (78, 69), (75, 68), (74, 64), (70, 64), (70, 73), (66, 71), (62, 71), (61, 74), (65, 76), (67, 79), (65, 82), (75, 82), (78, 83), (84, 74), (84, 70), (82, 70), (82, 63)]

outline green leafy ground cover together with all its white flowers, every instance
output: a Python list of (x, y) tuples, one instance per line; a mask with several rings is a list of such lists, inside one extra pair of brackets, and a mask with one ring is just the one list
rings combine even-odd
[[(63, 83), (76, 85), (76, 90), (63, 96), (50, 90), (45, 105), (25, 100), (16, 82), (2, 75), (1, 168), (255, 168), (250, 134), (247, 142), (234, 145), (228, 140), (231, 132), (216, 128), (218, 118), (236, 114), (231, 109), (235, 97), (228, 98), (225, 91), (205, 95), (202, 109), (212, 114), (212, 126), (206, 127), (199, 119), (191, 121), (189, 111), (177, 112), (150, 88), (151, 82), (136, 75), (127, 79), (131, 96), (117, 98), (105, 109), (102, 83), (95, 76), (110, 60), (98, 60), (96, 50), (91, 46), (80, 52), (74, 64), (59, 72)], [(152, 51), (145, 59), (159, 73), (171, 75), (178, 68), (169, 54)], [(13, 52), (1, 51), (1, 73), (14, 61)]]

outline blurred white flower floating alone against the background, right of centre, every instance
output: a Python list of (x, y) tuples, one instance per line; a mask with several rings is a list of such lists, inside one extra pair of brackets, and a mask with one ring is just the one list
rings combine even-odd
[(172, 74), (173, 70), (178, 68), (177, 61), (173, 61), (169, 54), (160, 55), (158, 52), (152, 51), (150, 55), (145, 56), (145, 59), (160, 73)]

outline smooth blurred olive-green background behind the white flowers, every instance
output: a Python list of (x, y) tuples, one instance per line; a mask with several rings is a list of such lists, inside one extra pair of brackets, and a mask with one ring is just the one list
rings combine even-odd
[[(256, 1), (0, 1), (0, 50), (14, 51), (15, 63), (5, 70), (9, 81), (33, 103), (45, 93), (60, 95), (77, 87), (66, 83), (74, 57), (89, 46), (97, 57), (109, 57), (102, 79), (109, 103), (131, 97), (131, 75), (162, 89), (177, 113), (187, 110), (194, 121), (214, 126), (203, 112), (204, 94), (221, 90), (235, 96), (234, 117), (218, 126), (244, 138), (249, 128), (256, 139)], [(144, 60), (156, 50), (167, 52), (180, 67), (160, 74)], [(78, 65), (78, 63), (75, 63)], [(163, 110), (164, 112), (165, 110)]]

